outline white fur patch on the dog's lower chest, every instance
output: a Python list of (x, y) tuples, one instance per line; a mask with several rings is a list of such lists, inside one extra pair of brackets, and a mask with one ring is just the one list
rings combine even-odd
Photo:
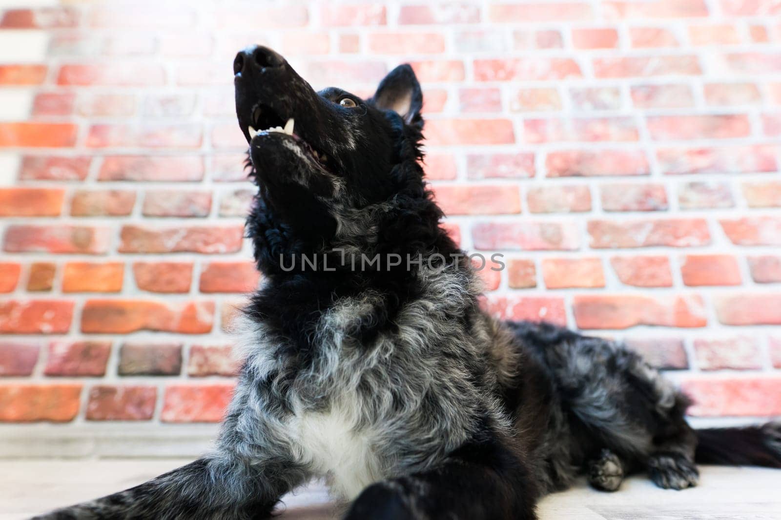
[(331, 493), (352, 500), (383, 478), (373, 436), (356, 430), (353, 414), (340, 409), (304, 412), (291, 423), (300, 462), (325, 476)]

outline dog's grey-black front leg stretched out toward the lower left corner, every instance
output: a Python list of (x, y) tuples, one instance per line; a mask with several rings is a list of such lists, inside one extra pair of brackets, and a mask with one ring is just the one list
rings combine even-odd
[(270, 516), (273, 503), (259, 503), (257, 495), (252, 497), (247, 493), (250, 490), (242, 489), (242, 481), (231, 482), (229, 472), (216, 472), (209, 462), (201, 458), (128, 490), (30, 520), (216, 520)]

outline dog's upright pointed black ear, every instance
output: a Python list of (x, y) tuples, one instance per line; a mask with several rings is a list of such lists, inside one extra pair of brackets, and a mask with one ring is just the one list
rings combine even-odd
[(380, 81), (380, 86), (371, 98), (376, 108), (393, 110), (412, 126), (423, 126), (420, 109), (423, 107), (423, 92), (412, 67), (398, 65)]

